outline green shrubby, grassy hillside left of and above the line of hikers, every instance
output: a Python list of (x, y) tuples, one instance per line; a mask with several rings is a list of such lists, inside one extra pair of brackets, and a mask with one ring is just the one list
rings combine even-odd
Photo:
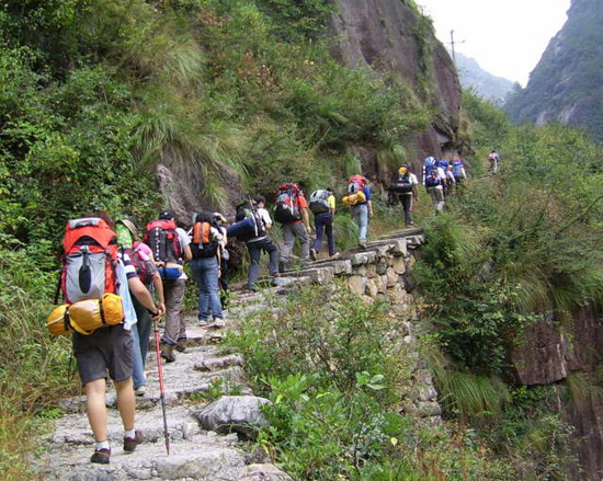
[(148, 219), (164, 202), (155, 192), (158, 162), (198, 179), (212, 206), (229, 202), (232, 176), (269, 197), (283, 180), (323, 186), (360, 169), (348, 144), (397, 162), (401, 142), (429, 125), (432, 112), (396, 79), (333, 61), (318, 34), (332, 8), (318, 0), (0, 5), (7, 479), (27, 476), (29, 420), (52, 415), (53, 400), (77, 389), (66, 376), (68, 344), (42, 328), (66, 219), (101, 208)]

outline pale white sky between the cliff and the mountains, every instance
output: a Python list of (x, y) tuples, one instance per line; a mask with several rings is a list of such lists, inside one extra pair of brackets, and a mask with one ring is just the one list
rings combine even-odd
[(497, 77), (523, 87), (548, 42), (564, 26), (570, 0), (417, 0), (437, 38)]

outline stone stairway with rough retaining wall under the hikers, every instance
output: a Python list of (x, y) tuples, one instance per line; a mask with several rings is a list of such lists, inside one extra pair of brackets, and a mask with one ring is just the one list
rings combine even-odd
[[(406, 229), (371, 242), (366, 249), (353, 250), (337, 260), (311, 263), (308, 268), (283, 274), (281, 285), (259, 293), (240, 293), (229, 306), (226, 329), (236, 319), (262, 309), (268, 297), (286, 295), (300, 283), (329, 284), (341, 278), (360, 296), (372, 300), (394, 296), (400, 302), (401, 322), (407, 325), (405, 343), (414, 342), (412, 296), (406, 290), (405, 274), (414, 262), (411, 251), (423, 242), (419, 229)], [(413, 313), (414, 312), (414, 313)], [(243, 363), (238, 355), (224, 355), (219, 342), (225, 330), (202, 328), (196, 317), (187, 321), (189, 347), (178, 353), (177, 362), (163, 364), (170, 455), (166, 454), (163, 422), (155, 347), (147, 359), (148, 392), (137, 399), (136, 428), (143, 430), (146, 442), (133, 454), (122, 449), (123, 427), (115, 406), (115, 393), (106, 396), (107, 435), (112, 446), (111, 465), (89, 462), (93, 438), (83, 411), (83, 397), (64, 400), (66, 414), (56, 421), (44, 439), (45, 453), (33, 460), (41, 479), (47, 481), (125, 481), (125, 480), (203, 480), (203, 481), (276, 481), (291, 480), (288, 474), (252, 454), (249, 443), (236, 434), (218, 435), (204, 431), (197, 413), (207, 404), (204, 394), (212, 390), (250, 394)], [(413, 392), (405, 411), (441, 422), (436, 392), (425, 366), (418, 360), (412, 376)]]

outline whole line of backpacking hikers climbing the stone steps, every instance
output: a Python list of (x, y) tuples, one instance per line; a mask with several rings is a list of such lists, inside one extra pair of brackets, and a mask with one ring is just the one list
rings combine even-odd
[[(467, 175), (460, 159), (437, 161), (428, 157), (422, 177), (436, 211), (441, 211), (445, 196)], [(403, 164), (388, 188), (402, 205), (406, 226), (412, 225), (418, 186), (417, 175), (410, 165)], [(374, 216), (369, 180), (362, 174), (352, 175), (342, 203), (351, 208), (359, 226), (359, 247), (366, 248), (368, 224)], [(123, 448), (133, 451), (143, 440), (134, 425), (135, 400), (146, 393), (145, 363), (150, 333), (155, 325), (158, 336), (158, 322), (163, 316), (158, 355), (173, 363), (177, 353), (186, 350), (182, 316), (187, 280), (184, 264), (190, 262), (190, 272), (198, 287), (200, 324), (223, 328), (220, 289), (228, 288), (228, 242), (237, 238), (247, 245), (250, 259), (247, 290), (257, 290), (262, 252), (269, 256), (271, 284), (278, 285), (282, 273), (292, 267), (296, 239), (302, 248), (302, 266), (318, 259), (325, 238), (329, 257), (339, 256), (333, 236), (335, 211), (331, 187), (314, 191), (306, 198), (300, 184), (282, 184), (273, 209), (274, 220), (282, 225), (282, 247), (271, 239), (273, 219), (262, 195), (241, 202), (234, 222), (228, 224), (219, 213), (202, 210), (193, 216), (187, 230), (177, 225), (175, 213), (170, 209), (160, 211), (143, 232), (134, 219), (124, 217), (114, 221), (104, 211), (68, 222), (59, 283), (65, 305), (53, 312), (48, 329), (56, 334), (72, 334), (96, 443), (91, 462), (110, 462), (104, 401), (106, 371), (117, 391), (125, 430)], [(316, 231), (314, 242), (310, 213)], [(57, 298), (58, 294), (57, 289)]]

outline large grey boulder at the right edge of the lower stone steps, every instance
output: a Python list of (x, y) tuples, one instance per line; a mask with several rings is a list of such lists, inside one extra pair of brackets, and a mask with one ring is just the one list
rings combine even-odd
[(261, 427), (269, 425), (262, 406), (271, 401), (255, 396), (225, 396), (196, 413), (204, 430), (218, 433), (236, 432), (253, 439)]

